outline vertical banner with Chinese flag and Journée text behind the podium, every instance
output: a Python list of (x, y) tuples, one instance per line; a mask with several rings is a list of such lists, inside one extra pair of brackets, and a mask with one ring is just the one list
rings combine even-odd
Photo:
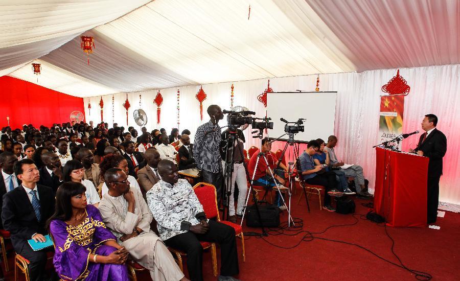
[(380, 143), (391, 140), (403, 132), (404, 95), (380, 97)]

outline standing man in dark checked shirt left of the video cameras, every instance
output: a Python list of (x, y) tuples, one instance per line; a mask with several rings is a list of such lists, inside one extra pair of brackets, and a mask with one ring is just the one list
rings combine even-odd
[(222, 194), (222, 158), (220, 157), (220, 126), (217, 124), (223, 119), (222, 110), (218, 105), (210, 105), (208, 114), (211, 120), (199, 126), (195, 134), (193, 156), (196, 167), (201, 171), (203, 182), (211, 183), (216, 187), (217, 204), (220, 205)]

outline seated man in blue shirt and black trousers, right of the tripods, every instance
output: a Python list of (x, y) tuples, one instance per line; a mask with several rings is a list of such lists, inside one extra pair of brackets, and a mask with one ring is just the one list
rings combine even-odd
[(336, 181), (333, 172), (324, 171), (325, 167), (323, 166), (315, 166), (312, 156), (318, 150), (319, 144), (312, 139), (308, 142), (307, 149), (298, 157), (301, 163), (302, 176), (306, 183), (323, 185), (326, 188), (323, 208), (329, 212), (335, 212), (335, 208), (331, 206), (331, 196), (340, 197), (343, 193), (335, 189)]

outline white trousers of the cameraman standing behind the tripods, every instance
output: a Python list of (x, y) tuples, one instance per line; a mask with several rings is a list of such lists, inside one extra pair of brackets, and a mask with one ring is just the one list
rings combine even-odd
[(246, 201), (246, 193), (247, 193), (247, 181), (246, 181), (246, 170), (244, 169), (243, 163), (234, 163), (233, 164), (233, 173), (232, 173), (232, 182), (231, 182), (231, 192), (229, 198), (229, 208), (228, 213), (230, 216), (235, 215), (235, 181), (238, 184), (238, 205), (237, 205), (237, 214), (243, 214), (243, 207)]

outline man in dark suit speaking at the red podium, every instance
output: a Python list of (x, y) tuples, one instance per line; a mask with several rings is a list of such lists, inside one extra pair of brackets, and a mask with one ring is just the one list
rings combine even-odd
[(428, 157), (428, 205), (427, 223), (436, 222), (438, 217), (439, 179), (443, 174), (443, 157), (447, 150), (446, 136), (436, 129), (438, 117), (427, 114), (422, 121), (422, 129), (425, 131), (420, 136), (419, 145), (411, 152), (420, 156)]

